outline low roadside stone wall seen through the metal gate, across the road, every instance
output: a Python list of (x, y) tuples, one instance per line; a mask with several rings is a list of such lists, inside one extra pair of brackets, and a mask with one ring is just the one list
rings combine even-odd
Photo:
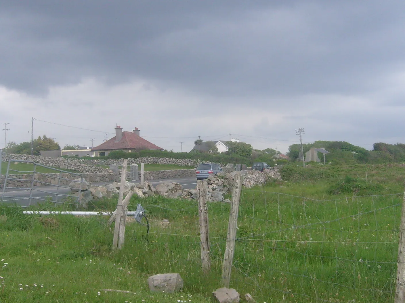
[[(112, 182), (117, 181), (117, 175), (114, 173), (87, 173), (82, 174), (83, 178), (89, 182)], [(47, 186), (49, 183), (52, 185), (58, 185), (59, 174), (40, 174), (36, 173), (34, 178), (34, 186)], [(69, 185), (71, 180), (79, 178), (78, 175), (62, 173), (62, 178), (60, 179), (60, 185), (66, 186)], [(16, 180), (23, 179), (23, 180)], [(0, 179), (0, 188), (3, 188), (5, 181), (5, 176), (2, 175)], [(44, 183), (41, 183), (44, 182)], [(7, 179), (7, 187), (31, 187), (32, 183), (32, 174), (24, 175), (9, 175)]]

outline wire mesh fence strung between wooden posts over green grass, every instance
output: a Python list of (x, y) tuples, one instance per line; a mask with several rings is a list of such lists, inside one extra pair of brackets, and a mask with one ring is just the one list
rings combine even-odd
[[(243, 189), (230, 287), (261, 302), (393, 301), (402, 201), (403, 193), (317, 200)], [(200, 262), (196, 202), (145, 208), (151, 239), (184, 245)], [(229, 204), (208, 208), (211, 271), (219, 274)]]

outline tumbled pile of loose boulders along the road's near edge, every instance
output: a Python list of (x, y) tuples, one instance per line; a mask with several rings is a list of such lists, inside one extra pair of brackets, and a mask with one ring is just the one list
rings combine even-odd
[[(211, 202), (224, 202), (229, 203), (229, 199), (224, 198), (224, 194), (232, 191), (235, 175), (243, 175), (243, 186), (251, 188), (256, 185), (263, 185), (273, 179), (281, 180), (281, 176), (277, 168), (266, 169), (264, 172), (258, 170), (242, 170), (233, 171), (230, 173), (220, 172), (217, 176), (209, 176), (205, 180), (207, 183), (207, 199)], [(80, 179), (70, 183), (71, 191), (74, 196), (79, 195)], [(113, 195), (119, 193), (120, 183), (113, 182), (112, 184), (92, 186), (87, 181), (81, 184), (81, 192), (79, 202), (82, 206), (87, 207), (88, 202), (93, 199), (101, 199), (103, 197), (111, 198)], [(162, 182), (154, 187), (151, 183), (145, 181), (144, 185), (140, 183), (131, 183), (125, 181), (124, 196), (132, 190), (141, 198), (164, 196), (166, 198), (188, 199), (197, 200), (196, 189), (183, 188), (180, 183), (176, 182)]]

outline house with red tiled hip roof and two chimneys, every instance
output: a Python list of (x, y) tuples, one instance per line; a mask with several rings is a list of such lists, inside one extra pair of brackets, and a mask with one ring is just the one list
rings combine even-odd
[(135, 127), (132, 132), (122, 131), (121, 126), (115, 128), (115, 137), (105, 141), (104, 143), (93, 147), (92, 153), (95, 157), (107, 156), (110, 151), (122, 150), (126, 152), (138, 151), (140, 149), (154, 149), (154, 150), (163, 150), (162, 147), (159, 147), (145, 139), (143, 139), (139, 133), (137, 127)]

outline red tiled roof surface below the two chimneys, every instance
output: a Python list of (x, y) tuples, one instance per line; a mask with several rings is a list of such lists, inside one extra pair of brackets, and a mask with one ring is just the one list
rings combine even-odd
[(92, 150), (114, 150), (114, 149), (159, 149), (163, 148), (135, 135), (132, 132), (122, 132), (122, 138), (115, 142), (115, 137), (92, 148)]

